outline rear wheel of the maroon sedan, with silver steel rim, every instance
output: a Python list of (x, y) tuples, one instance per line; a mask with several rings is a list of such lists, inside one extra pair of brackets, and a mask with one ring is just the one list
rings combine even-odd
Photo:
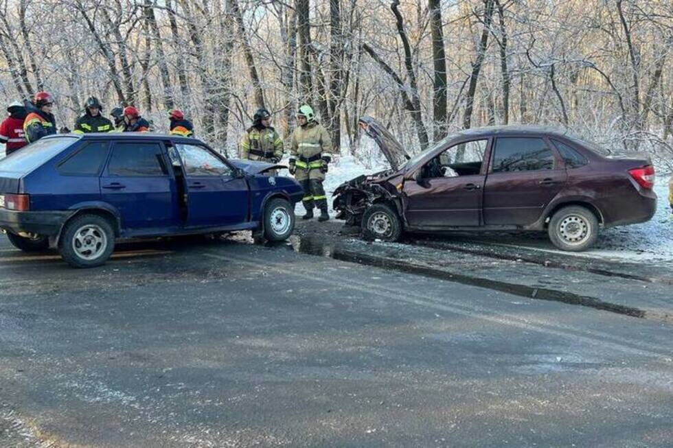
[(591, 210), (571, 205), (554, 213), (548, 231), (549, 239), (560, 250), (581, 252), (595, 244), (600, 228)]

